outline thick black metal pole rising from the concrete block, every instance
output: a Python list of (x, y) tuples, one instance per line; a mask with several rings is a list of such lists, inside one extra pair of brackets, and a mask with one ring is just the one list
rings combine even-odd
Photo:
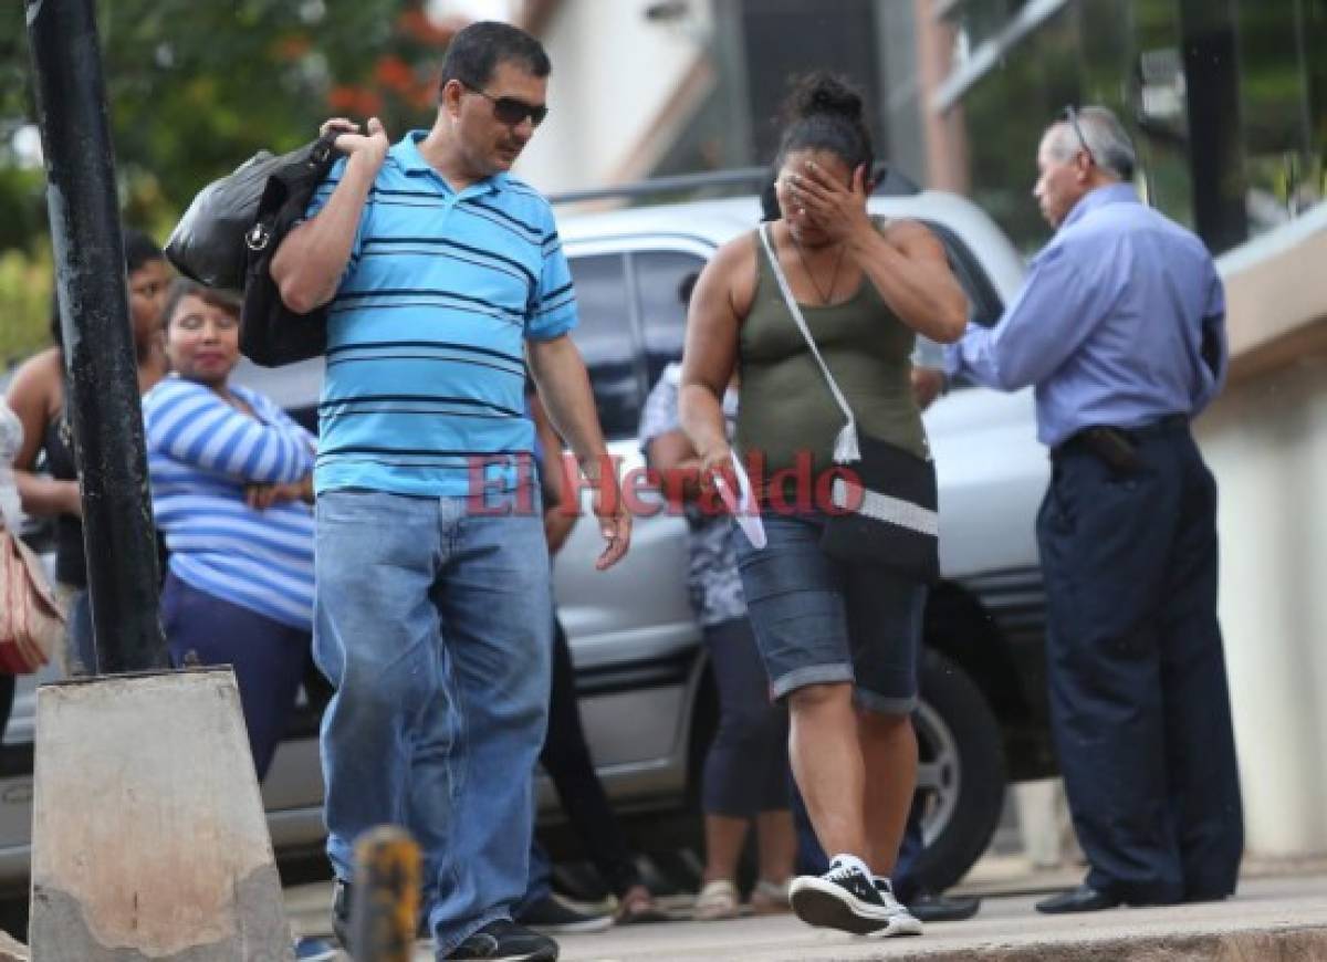
[(94, 0), (27, 0), (97, 670), (166, 667)]

